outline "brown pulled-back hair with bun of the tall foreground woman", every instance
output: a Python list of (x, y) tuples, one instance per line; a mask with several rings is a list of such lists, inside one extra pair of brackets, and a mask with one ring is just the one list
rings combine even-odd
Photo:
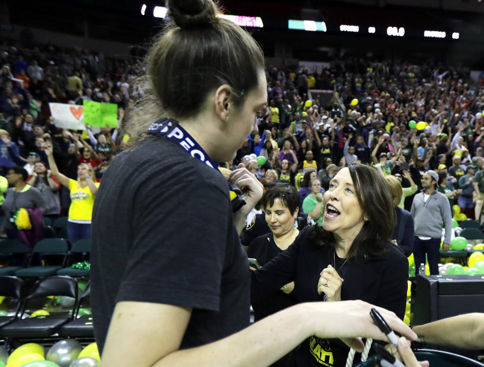
[(149, 51), (147, 70), (163, 109), (191, 117), (207, 94), (224, 84), (231, 87), (233, 103), (241, 105), (264, 69), (257, 42), (219, 18), (212, 0), (168, 0), (167, 8), (172, 22)]

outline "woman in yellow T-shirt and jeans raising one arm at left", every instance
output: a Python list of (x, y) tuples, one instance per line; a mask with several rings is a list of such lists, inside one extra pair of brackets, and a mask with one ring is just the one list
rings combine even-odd
[(81, 163), (77, 168), (77, 180), (70, 179), (59, 172), (52, 154), (52, 145), (45, 147), (52, 175), (71, 192), (71, 206), (67, 235), (71, 244), (83, 238), (91, 237), (91, 218), (99, 183), (96, 182), (94, 169), (90, 164)]

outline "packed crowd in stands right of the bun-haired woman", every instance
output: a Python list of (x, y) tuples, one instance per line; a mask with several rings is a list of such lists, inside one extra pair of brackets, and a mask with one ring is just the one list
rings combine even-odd
[[(323, 190), (345, 163), (372, 165), (400, 180), (407, 210), (422, 175), (435, 170), (450, 204), (479, 216), (484, 91), (468, 70), (360, 59), (321, 72), (268, 66), (266, 76), (268, 107), (233, 164), (243, 161), (266, 182), (289, 180), (298, 189), (308, 187), (304, 174), (316, 171)], [(335, 91), (331, 105), (311, 98), (311, 89)], [(251, 154), (266, 163), (254, 170)]]

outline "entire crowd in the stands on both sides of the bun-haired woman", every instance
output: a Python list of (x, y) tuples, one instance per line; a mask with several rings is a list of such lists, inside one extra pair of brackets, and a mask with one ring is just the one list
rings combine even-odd
[[(144, 68), (131, 61), (51, 44), (2, 46), (2, 176), (8, 176), (13, 167), (25, 168), (26, 184), (46, 200), (44, 215), (66, 215), (73, 197), (92, 199), (95, 190), (85, 195), (73, 191), (69, 180), (86, 191), (89, 185), (81, 178), (99, 182), (115, 154), (127, 148), (129, 136), (118, 130), (123, 127), (124, 111), (143, 94), (139, 80)], [(484, 93), (480, 84), (470, 83), (468, 70), (349, 59), (334, 61), (321, 72), (268, 65), (266, 77), (269, 97), (267, 107), (257, 115), (259, 131), (248, 136), (232, 162), (221, 166), (233, 170), (243, 162), (263, 183), (290, 182), (301, 195), (299, 210), (312, 212), (316, 221), (314, 208), (324, 208), (324, 203), (318, 205), (322, 202), (318, 193), (328, 190), (331, 178), (345, 163), (372, 165), (383, 175), (396, 176), (404, 188), (399, 206), (407, 210), (413, 194), (422, 188), (422, 175), (432, 169), (439, 174), (439, 191), (450, 204), (478, 219), (484, 198)], [(322, 105), (311, 90), (335, 93), (329, 105)], [(89, 126), (72, 131), (53, 124), (50, 102), (79, 105), (85, 99), (117, 104), (118, 129), (106, 127), (93, 133)], [(264, 159), (258, 161), (259, 156)], [(66, 179), (52, 175), (52, 162)], [(91, 168), (93, 174), (84, 173)], [(5, 195), (8, 183), (1, 180)], [(79, 210), (89, 211), (90, 206), (71, 208), (70, 215)], [(4, 210), (3, 215), (11, 216), (10, 211)], [(70, 219), (88, 224), (90, 215), (79, 213)]]

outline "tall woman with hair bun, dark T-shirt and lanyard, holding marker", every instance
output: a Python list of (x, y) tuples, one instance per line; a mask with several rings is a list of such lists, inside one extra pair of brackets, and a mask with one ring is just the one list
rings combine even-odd
[(166, 6), (171, 23), (148, 52), (144, 100), (131, 116), (136, 143), (109, 165), (94, 203), (100, 365), (258, 367), (310, 335), (345, 338), (359, 350), (354, 337), (385, 338), (364, 302), (296, 305), (249, 327), (250, 270), (239, 233), (263, 187), (244, 165), (227, 179), (217, 167), (257, 128), (267, 103), (264, 57), (211, 0)]

